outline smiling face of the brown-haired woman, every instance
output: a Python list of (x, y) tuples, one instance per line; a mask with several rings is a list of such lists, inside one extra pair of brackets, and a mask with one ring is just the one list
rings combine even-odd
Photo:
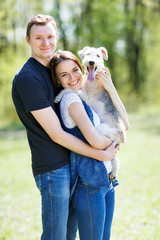
[(79, 90), (82, 88), (83, 76), (81, 69), (72, 60), (65, 60), (56, 67), (56, 75), (59, 83), (64, 88)]

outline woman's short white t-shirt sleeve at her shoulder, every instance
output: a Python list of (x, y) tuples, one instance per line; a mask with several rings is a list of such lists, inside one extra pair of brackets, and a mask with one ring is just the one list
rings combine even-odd
[(68, 112), (69, 106), (71, 105), (71, 103), (74, 102), (79, 102), (82, 104), (82, 100), (76, 93), (66, 93), (60, 102), (60, 112), (62, 121), (67, 128), (73, 128), (76, 126), (76, 123), (74, 122), (74, 120), (72, 119)]

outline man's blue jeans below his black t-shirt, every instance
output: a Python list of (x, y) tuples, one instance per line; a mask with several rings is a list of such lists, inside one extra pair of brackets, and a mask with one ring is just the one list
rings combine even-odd
[(42, 199), (41, 240), (65, 240), (70, 197), (69, 165), (35, 177)]

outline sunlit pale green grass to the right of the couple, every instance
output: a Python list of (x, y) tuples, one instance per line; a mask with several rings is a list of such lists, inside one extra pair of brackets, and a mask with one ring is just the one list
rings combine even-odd
[(120, 185), (112, 240), (158, 240), (160, 236), (160, 114), (130, 116), (127, 143), (119, 152)]

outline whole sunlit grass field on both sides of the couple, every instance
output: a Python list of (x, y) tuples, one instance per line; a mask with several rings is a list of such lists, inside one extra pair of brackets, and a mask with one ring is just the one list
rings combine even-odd
[[(129, 114), (111, 240), (160, 239), (160, 111)], [(0, 130), (0, 240), (38, 240), (40, 196), (24, 130)], [(97, 239), (98, 240), (98, 239)]]

